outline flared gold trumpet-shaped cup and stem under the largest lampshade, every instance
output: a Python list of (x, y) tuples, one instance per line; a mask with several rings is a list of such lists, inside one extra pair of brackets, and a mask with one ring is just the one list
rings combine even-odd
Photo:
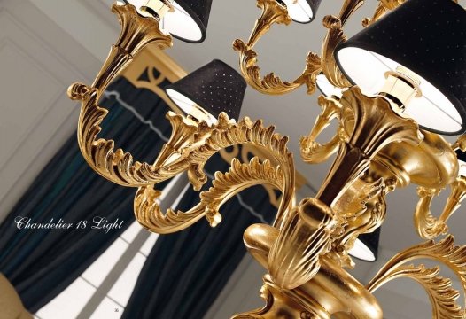
[(339, 103), (341, 125), (349, 138), (338, 148), (337, 159), (316, 196), (328, 206), (369, 168), (370, 161), (386, 145), (416, 145), (423, 138), (416, 122), (394, 113), (384, 97), (366, 97), (361, 89), (352, 87)]

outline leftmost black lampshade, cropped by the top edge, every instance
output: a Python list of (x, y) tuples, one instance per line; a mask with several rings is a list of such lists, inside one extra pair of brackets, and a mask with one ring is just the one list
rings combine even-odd
[[(124, 0), (140, 8), (147, 0)], [(161, 29), (188, 43), (201, 43), (206, 39), (212, 0), (175, 0), (175, 12), (167, 12), (160, 21)]]

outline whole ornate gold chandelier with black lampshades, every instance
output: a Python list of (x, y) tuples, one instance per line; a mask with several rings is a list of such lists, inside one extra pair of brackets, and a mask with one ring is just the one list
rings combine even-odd
[[(464, 307), (451, 280), (439, 268), (407, 265), (429, 258), (458, 276), (466, 291), (466, 246), (454, 245), (447, 220), (466, 195), (466, 138), (448, 144), (440, 136), (466, 130), (466, 12), (454, 0), (381, 0), (361, 32), (346, 39), (343, 27), (362, 0), (342, 0), (338, 16), (323, 19), (328, 29), (319, 56), (310, 52), (304, 71), (291, 82), (275, 74), (260, 75), (254, 45), (273, 24), (315, 18), (320, 0), (258, 0), (260, 18), (247, 42), (236, 40), (237, 74), (214, 60), (167, 87), (167, 95), (186, 113), (167, 113), (173, 131), (155, 161), (142, 163), (112, 140), (99, 138), (108, 111), (97, 105), (106, 86), (147, 44), (165, 49), (174, 35), (202, 42), (212, 0), (150, 0), (113, 4), (121, 24), (113, 45), (91, 86), (73, 84), (69, 97), (81, 100), (78, 142), (84, 158), (99, 175), (122, 186), (137, 187), (136, 219), (147, 230), (171, 233), (203, 217), (221, 222), (221, 206), (239, 191), (269, 184), (282, 192), (273, 225), (245, 230), (245, 245), (266, 268), (261, 290), (266, 306), (236, 318), (382, 318), (372, 292), (398, 277), (415, 279), (428, 293), (435, 318), (463, 318)], [(171, 35), (168, 35), (170, 33)], [(238, 119), (246, 82), (271, 95), (301, 85), (312, 94), (319, 87), (322, 107), (314, 127), (300, 141), (301, 158), (321, 163), (337, 153), (315, 198), (295, 199), (295, 168), (287, 137), (273, 127)], [(326, 144), (316, 138), (338, 121)], [(213, 187), (200, 193), (187, 212), (161, 212), (154, 186), (187, 172), (195, 190), (206, 183), (206, 161), (236, 144), (262, 148), (267, 159), (234, 159), (228, 172), (217, 172)], [(345, 268), (354, 263), (348, 251), (356, 239), (384, 222), (385, 195), (409, 183), (419, 186), (415, 224), (428, 241), (409, 247), (388, 261), (364, 286)], [(439, 218), (431, 200), (451, 187)], [(436, 240), (437, 239), (437, 240)], [(466, 300), (465, 300), (466, 301)]]

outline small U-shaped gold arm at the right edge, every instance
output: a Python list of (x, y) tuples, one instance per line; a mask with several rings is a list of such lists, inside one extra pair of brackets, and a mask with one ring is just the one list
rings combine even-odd
[(458, 177), (450, 187), (450, 196), (439, 218), (431, 214), (431, 202), (435, 196), (439, 195), (440, 191), (423, 187), (417, 189), (417, 195), (420, 199), (415, 211), (415, 227), (420, 237), (433, 239), (447, 233), (447, 220), (461, 206), (462, 200), (466, 198), (466, 177)]

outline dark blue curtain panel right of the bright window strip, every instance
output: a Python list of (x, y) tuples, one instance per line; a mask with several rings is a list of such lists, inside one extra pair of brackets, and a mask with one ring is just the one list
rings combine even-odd
[[(217, 156), (206, 170), (212, 175), (228, 168)], [(198, 194), (189, 191), (178, 207), (186, 211), (198, 201)], [(159, 237), (122, 318), (202, 318), (245, 256), (245, 229), (271, 222), (275, 213), (267, 192), (258, 186), (231, 198), (221, 208), (223, 221), (216, 228), (199, 221), (188, 230)]]

